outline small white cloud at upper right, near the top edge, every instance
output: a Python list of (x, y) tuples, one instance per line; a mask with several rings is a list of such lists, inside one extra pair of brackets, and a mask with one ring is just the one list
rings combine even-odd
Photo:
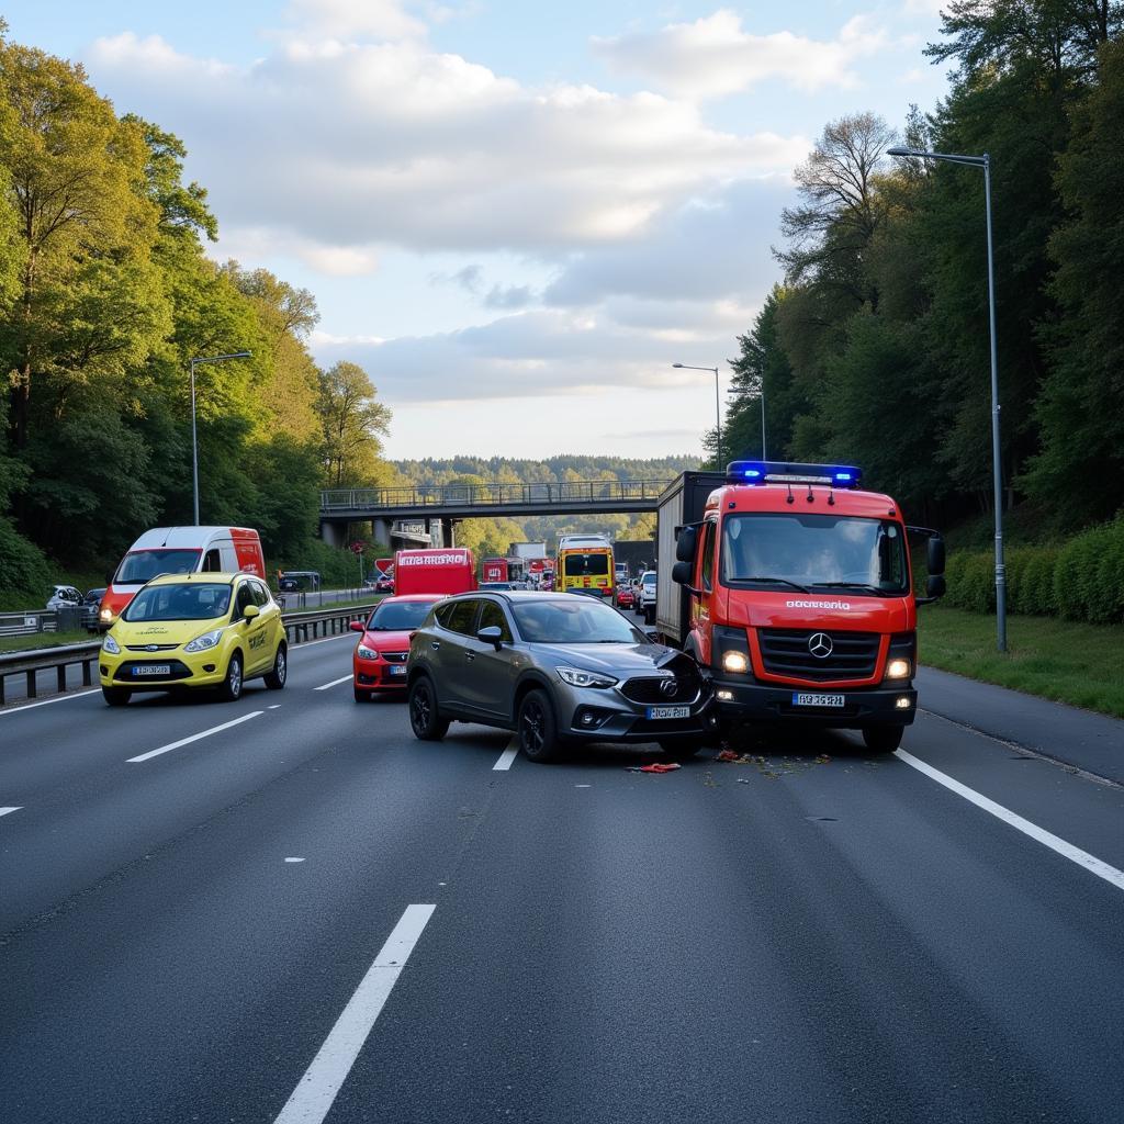
[(824, 40), (791, 31), (751, 35), (727, 8), (694, 24), (592, 40), (615, 71), (640, 74), (658, 88), (696, 100), (737, 93), (769, 79), (809, 92), (851, 88), (859, 82), (854, 64), (888, 43), (887, 34), (865, 16), (855, 16), (834, 39)]

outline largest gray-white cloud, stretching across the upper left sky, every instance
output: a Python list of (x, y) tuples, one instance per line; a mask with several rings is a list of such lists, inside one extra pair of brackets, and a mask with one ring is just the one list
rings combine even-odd
[(339, 272), (389, 245), (556, 256), (641, 237), (716, 178), (787, 173), (803, 139), (738, 136), (694, 107), (588, 85), (525, 88), (417, 43), (292, 39), (245, 70), (152, 37), (98, 40), (123, 109), (179, 134), (224, 238), (245, 228)]

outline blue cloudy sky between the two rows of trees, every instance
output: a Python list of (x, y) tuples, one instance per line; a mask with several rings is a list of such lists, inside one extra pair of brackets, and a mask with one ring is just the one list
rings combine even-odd
[(946, 91), (941, 0), (17, 0), (310, 290), (387, 455), (700, 453), (824, 126)]

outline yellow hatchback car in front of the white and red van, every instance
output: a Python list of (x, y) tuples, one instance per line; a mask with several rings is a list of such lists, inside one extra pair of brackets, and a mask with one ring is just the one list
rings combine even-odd
[(284, 687), (288, 647), (281, 608), (248, 573), (155, 578), (106, 633), (101, 692), (125, 706), (134, 691), (217, 688), (234, 701), (247, 679)]

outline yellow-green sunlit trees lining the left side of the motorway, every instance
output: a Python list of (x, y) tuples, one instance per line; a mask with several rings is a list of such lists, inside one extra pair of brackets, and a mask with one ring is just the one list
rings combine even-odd
[(311, 293), (206, 256), (217, 223), (176, 137), (4, 30), (0, 589), (38, 599), (47, 556), (98, 572), (192, 520), (189, 360), (236, 351), (196, 366), (200, 518), (302, 553), (318, 488), (389, 479), (389, 411), (355, 364), (316, 366)]

